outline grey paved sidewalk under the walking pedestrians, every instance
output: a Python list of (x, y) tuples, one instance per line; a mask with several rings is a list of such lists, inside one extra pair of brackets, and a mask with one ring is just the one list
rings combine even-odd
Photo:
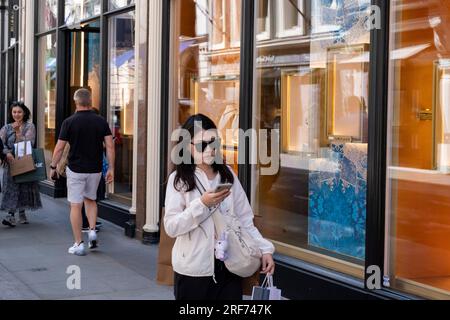
[(44, 195), (42, 201), (44, 209), (27, 213), (29, 225), (0, 225), (0, 300), (173, 300), (173, 288), (155, 281), (158, 246), (102, 221), (99, 248), (69, 255), (69, 206)]

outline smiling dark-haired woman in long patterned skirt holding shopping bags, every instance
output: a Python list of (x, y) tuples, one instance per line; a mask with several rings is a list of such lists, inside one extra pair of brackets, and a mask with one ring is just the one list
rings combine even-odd
[(11, 228), (16, 226), (17, 211), (19, 223), (28, 224), (25, 210), (42, 208), (38, 183), (15, 183), (9, 170), (9, 164), (14, 161), (14, 144), (22, 141), (31, 141), (32, 145), (35, 144), (36, 128), (30, 122), (30, 114), (30, 110), (22, 102), (14, 102), (9, 113), (9, 124), (0, 130), (0, 138), (4, 144), (2, 153), (8, 163), (3, 170), (3, 196), (0, 210), (8, 212), (2, 224)]

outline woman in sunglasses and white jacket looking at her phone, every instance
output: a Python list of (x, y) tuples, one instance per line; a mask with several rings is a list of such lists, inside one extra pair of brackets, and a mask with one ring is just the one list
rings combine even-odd
[[(243, 279), (215, 258), (219, 236), (211, 213), (219, 206), (221, 214), (235, 214), (239, 218), (259, 243), (262, 273), (274, 273), (274, 246), (254, 226), (252, 209), (236, 175), (217, 161), (221, 157), (220, 139), (214, 122), (198, 114), (190, 117), (182, 129), (185, 134), (180, 137), (179, 145), (184, 148), (179, 155), (183, 161), (169, 177), (164, 217), (167, 234), (176, 238), (172, 250), (175, 298), (242, 300)], [(189, 144), (186, 138), (190, 139)], [(215, 191), (219, 184), (225, 183), (231, 184), (231, 189)]]

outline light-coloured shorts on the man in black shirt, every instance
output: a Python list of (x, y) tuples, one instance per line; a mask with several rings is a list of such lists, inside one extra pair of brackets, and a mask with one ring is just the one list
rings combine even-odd
[(73, 204), (82, 204), (85, 199), (97, 200), (97, 189), (102, 178), (100, 173), (75, 173), (68, 167), (67, 200)]

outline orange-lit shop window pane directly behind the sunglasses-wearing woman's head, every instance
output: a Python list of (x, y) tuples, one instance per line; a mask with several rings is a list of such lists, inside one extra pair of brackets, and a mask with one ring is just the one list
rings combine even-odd
[[(172, 127), (203, 113), (218, 126), (237, 171), (241, 0), (172, 2)], [(236, 134), (227, 135), (227, 130)]]

